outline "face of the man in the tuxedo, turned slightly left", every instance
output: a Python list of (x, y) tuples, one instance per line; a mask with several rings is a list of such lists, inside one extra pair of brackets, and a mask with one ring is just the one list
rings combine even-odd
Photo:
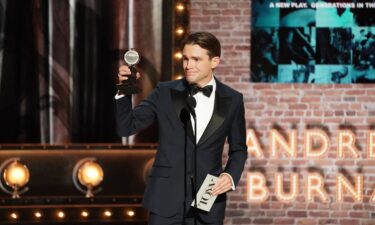
[(194, 44), (185, 45), (182, 55), (186, 80), (201, 87), (211, 80), (213, 70), (220, 62), (219, 57), (210, 59), (206, 49)]

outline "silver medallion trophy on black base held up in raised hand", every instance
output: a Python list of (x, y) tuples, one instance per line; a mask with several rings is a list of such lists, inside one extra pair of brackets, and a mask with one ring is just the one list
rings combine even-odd
[(131, 71), (131, 75), (128, 76), (127, 80), (116, 85), (117, 89), (124, 95), (132, 95), (141, 92), (141, 89), (136, 86), (137, 69), (134, 67), (134, 65), (139, 62), (139, 58), (138, 52), (134, 49), (130, 49), (124, 54), (124, 60)]

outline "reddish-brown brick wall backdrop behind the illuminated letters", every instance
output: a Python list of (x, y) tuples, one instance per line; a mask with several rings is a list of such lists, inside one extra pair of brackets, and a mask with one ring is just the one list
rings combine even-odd
[[(236, 191), (229, 194), (225, 224), (375, 224), (375, 204), (370, 202), (375, 188), (375, 160), (367, 156), (368, 131), (375, 127), (375, 85), (253, 82), (250, 70), (253, 65), (250, 62), (257, 57), (254, 45), (261, 43), (251, 41), (255, 30), (251, 29), (250, 23), (251, 4), (261, 2), (191, 1), (191, 29), (213, 32), (222, 42), (222, 63), (216, 76), (244, 94), (248, 144), (258, 139), (264, 154), (263, 158), (259, 158), (254, 154), (256, 147), (249, 149), (249, 159), (240, 184)], [(272, 157), (272, 129), (278, 130), (287, 139), (289, 132), (297, 131), (296, 157), (288, 156), (284, 150)], [(330, 144), (321, 158), (306, 159), (304, 156), (304, 135), (311, 129), (328, 135)], [(352, 131), (356, 137), (358, 157), (348, 149), (345, 150), (345, 158), (338, 157), (339, 131), (344, 129)], [(254, 136), (257, 138), (252, 138)], [(308, 201), (305, 185), (312, 172), (322, 176), (329, 202), (324, 203), (316, 193), (314, 200)], [(254, 176), (254, 173), (259, 176)], [(296, 199), (283, 202), (277, 198), (280, 193), (276, 189), (277, 183), (280, 184), (280, 180), (275, 178), (277, 173), (283, 175), (285, 193), (289, 193), (290, 184), (295, 179), (291, 175), (297, 174), (299, 190)], [(340, 174), (353, 186), (357, 178), (363, 177), (363, 189), (359, 191), (363, 193), (362, 201), (356, 202), (345, 188), (343, 202), (338, 201), (336, 178)], [(262, 183), (262, 176), (265, 183)], [(268, 189), (269, 196), (259, 199), (258, 203), (253, 202), (251, 181), (259, 181), (253, 182), (253, 188), (261, 187), (258, 194), (262, 194), (262, 190), (267, 193)]]

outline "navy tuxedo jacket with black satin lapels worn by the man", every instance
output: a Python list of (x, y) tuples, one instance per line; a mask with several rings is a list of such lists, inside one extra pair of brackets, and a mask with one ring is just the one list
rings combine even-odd
[[(185, 129), (180, 119), (186, 108), (187, 93), (187, 82), (182, 79), (159, 83), (134, 109), (130, 96), (116, 100), (120, 136), (132, 135), (154, 121), (158, 125), (158, 149), (149, 173), (143, 205), (164, 217), (178, 213), (185, 194), (189, 195), (185, 189), (188, 182), (184, 182), (184, 178), (193, 172), (194, 137), (191, 122)], [(247, 158), (243, 96), (218, 80), (215, 94), (213, 115), (197, 143), (198, 188), (207, 174), (218, 176), (222, 172), (229, 173), (237, 184)], [(223, 169), (222, 152), (226, 140), (229, 152)], [(191, 203), (191, 194), (187, 199)], [(225, 200), (225, 194), (219, 195), (209, 213), (200, 213), (201, 218), (206, 222), (223, 221)]]

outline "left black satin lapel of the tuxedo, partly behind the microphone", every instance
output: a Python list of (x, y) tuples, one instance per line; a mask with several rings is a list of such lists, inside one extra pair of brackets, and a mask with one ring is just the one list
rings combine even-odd
[[(171, 98), (172, 102), (175, 108), (175, 113), (176, 117), (178, 118), (178, 121), (181, 121), (181, 112), (186, 106), (186, 97), (187, 97), (187, 92), (186, 90), (176, 90), (176, 89), (171, 89)], [(182, 122), (181, 122), (182, 123)], [(189, 122), (188, 122), (188, 129), (187, 129), (187, 134), (189, 138), (193, 141), (194, 140), (194, 133), (193, 133), (193, 128), (191, 125), (191, 120), (190, 120), (190, 114), (189, 114)]]

